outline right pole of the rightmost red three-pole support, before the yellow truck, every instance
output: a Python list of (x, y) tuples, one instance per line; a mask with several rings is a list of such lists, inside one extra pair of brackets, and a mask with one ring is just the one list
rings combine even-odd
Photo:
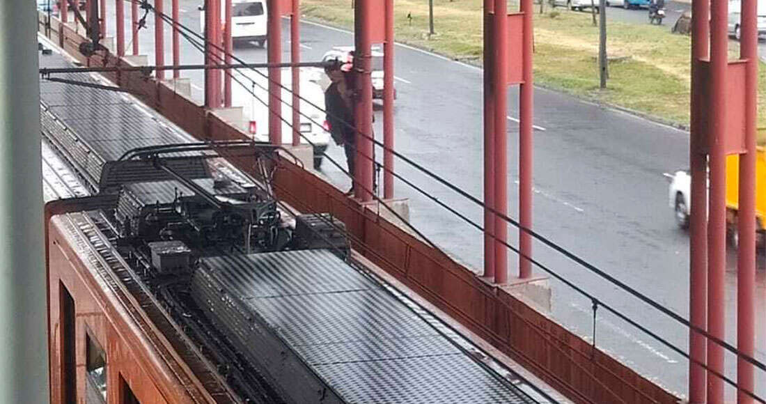
[[(739, 156), (739, 232), (737, 255), (737, 349), (755, 353), (755, 138), (758, 132), (758, 2), (741, 2), (740, 57), (745, 65), (745, 153)], [(737, 360), (737, 402), (753, 402), (744, 391), (755, 393), (754, 369)]]

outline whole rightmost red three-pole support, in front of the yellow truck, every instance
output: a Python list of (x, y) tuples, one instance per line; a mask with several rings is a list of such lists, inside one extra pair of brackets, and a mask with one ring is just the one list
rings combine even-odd
[[(745, 64), (745, 132), (727, 132), (727, 89), (732, 69), (728, 62), (727, 0), (692, 2), (692, 127), (690, 138), (691, 218), (689, 311), (691, 323), (719, 340), (725, 339), (726, 271), (726, 156), (739, 154), (737, 255), (737, 349), (755, 352), (755, 162), (758, 113), (757, 2), (741, 2), (741, 52)], [(710, 24), (707, 23), (710, 21)], [(702, 68), (709, 64), (709, 69)], [(705, 72), (709, 75), (705, 76)], [(709, 85), (709, 91), (702, 87)], [(735, 89), (740, 90), (740, 89)], [(703, 99), (709, 94), (709, 100)], [(708, 102), (705, 102), (708, 101)], [(705, 109), (705, 106), (707, 107)], [(704, 125), (705, 116), (709, 126)], [(742, 136), (744, 150), (727, 149), (727, 137)], [(736, 139), (732, 139), (736, 140)], [(708, 179), (709, 166), (709, 179)], [(708, 185), (709, 184), (709, 185)], [(708, 208), (709, 207), (709, 208)], [(709, 212), (708, 212), (709, 209)], [(689, 402), (724, 402), (724, 348), (690, 331)], [(709, 370), (705, 370), (704, 364)], [(751, 403), (755, 391), (754, 366), (737, 360), (737, 402)]]

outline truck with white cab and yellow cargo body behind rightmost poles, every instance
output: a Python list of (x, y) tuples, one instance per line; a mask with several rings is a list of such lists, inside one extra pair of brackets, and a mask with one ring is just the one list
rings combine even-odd
[[(670, 180), (669, 205), (676, 214), (676, 224), (680, 228), (689, 227), (691, 212), (691, 182), (688, 170), (679, 170), (665, 175)], [(755, 216), (758, 238), (763, 242), (764, 224), (766, 224), (766, 149), (758, 148), (758, 158), (755, 165)], [(736, 245), (737, 210), (739, 206), (739, 156), (726, 157), (726, 222), (729, 240)]]

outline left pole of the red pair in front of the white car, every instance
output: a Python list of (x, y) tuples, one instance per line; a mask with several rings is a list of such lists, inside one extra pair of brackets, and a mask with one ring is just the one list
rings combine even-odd
[[(282, 4), (271, 0), (268, 22), (268, 59), (270, 64), (282, 63)], [(269, 141), (282, 145), (282, 69), (269, 67)]]

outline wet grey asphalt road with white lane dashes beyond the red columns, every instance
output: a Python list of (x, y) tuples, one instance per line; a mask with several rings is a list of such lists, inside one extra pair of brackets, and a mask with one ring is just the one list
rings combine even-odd
[[(195, 0), (182, 0), (182, 24), (198, 29), (197, 5)], [(165, 9), (170, 10), (169, 0)], [(609, 11), (610, 15), (623, 15), (626, 19), (635, 15), (637, 22), (646, 18), (646, 11), (620, 8)], [(113, 18), (112, 15), (111, 21)], [(142, 53), (149, 54), (151, 63), (152, 20), (149, 17), (149, 27), (141, 32), (139, 42)], [(113, 31), (113, 28), (114, 24), (110, 24), (108, 29)], [(165, 31), (168, 40), (165, 60), (171, 61), (169, 28)], [(289, 30), (284, 32), (287, 35)], [(303, 24), (302, 38), (304, 61), (319, 60), (332, 46), (353, 41), (349, 32), (311, 23)], [(286, 51), (289, 50), (287, 41), (289, 38), (284, 46)], [(396, 52), (396, 149), (480, 198), (482, 71), (405, 46), (398, 46)], [(236, 54), (251, 62), (266, 59), (264, 49), (237, 48)], [(285, 53), (285, 58), (287, 55)], [(201, 61), (202, 55), (182, 40), (182, 63)], [(183, 77), (192, 80), (194, 96), (201, 100), (201, 71), (184, 72)], [(509, 90), (509, 96), (508, 115), (518, 117), (517, 90)], [(379, 111), (376, 114), (375, 131), (381, 137), (382, 117)], [(542, 128), (535, 131), (535, 231), (688, 317), (689, 238), (673, 222), (667, 182), (663, 179), (663, 172), (688, 166), (688, 133), (543, 89), (535, 92), (535, 125)], [(518, 201), (517, 134), (516, 123), (509, 121), (509, 214), (513, 217), (517, 216)], [(342, 149), (331, 146), (328, 154), (345, 166)], [(401, 161), (396, 162), (396, 171), (481, 223), (482, 212), (476, 205)], [(322, 166), (322, 174), (341, 188), (349, 186), (349, 179), (329, 162)], [(404, 184), (397, 183), (396, 193), (400, 198), (410, 199), (414, 225), (480, 271), (483, 253), (480, 232)], [(516, 229), (511, 228), (510, 235), (511, 244), (516, 245)], [(685, 327), (549, 248), (535, 245), (535, 258), (686, 351), (688, 331)], [(762, 256), (758, 266), (757, 356), (764, 360), (766, 273)], [(509, 268), (512, 273), (515, 271), (513, 257)], [(544, 274), (539, 269), (535, 272)], [(726, 339), (733, 343), (736, 284), (733, 261), (728, 266), (726, 282)], [(593, 334), (591, 301), (555, 281), (552, 281), (552, 291), (552, 315), (569, 329), (589, 338)], [(597, 311), (596, 344), (666, 388), (686, 394), (687, 361), (603, 308)], [(731, 355), (727, 356), (727, 370), (733, 378), (735, 362)], [(766, 375), (761, 373), (757, 379), (760, 380), (758, 392), (764, 395)], [(732, 389), (728, 392), (733, 394)]]

